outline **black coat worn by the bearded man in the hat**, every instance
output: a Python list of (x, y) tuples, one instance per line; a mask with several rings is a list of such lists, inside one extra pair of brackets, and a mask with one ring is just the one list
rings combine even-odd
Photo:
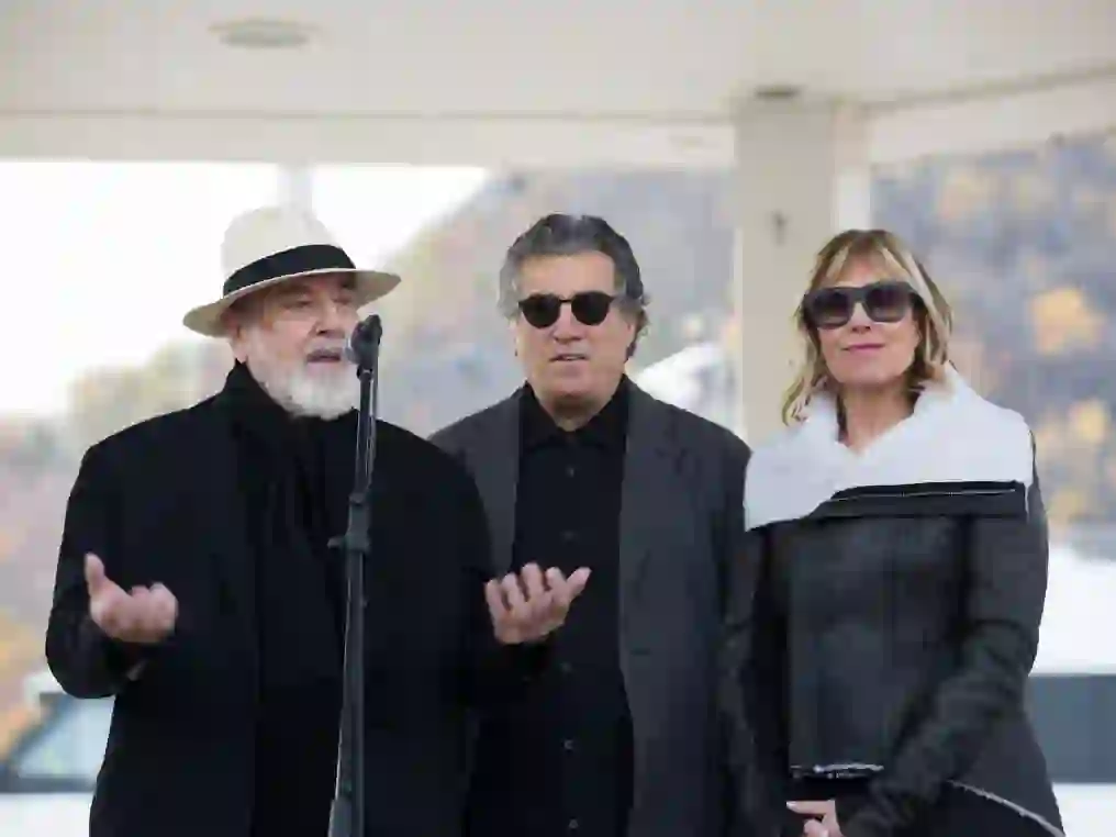
[[(352, 483), (355, 414), (329, 456)], [(463, 716), (513, 684), (484, 605), (490, 545), (466, 472), (429, 442), (378, 424), (367, 577), (368, 830), (458, 834)], [(243, 837), (253, 776), (253, 580), (231, 436), (213, 400), (93, 446), (66, 513), (47, 660), (79, 698), (115, 695), (90, 837)], [(338, 532), (339, 533), (339, 532)], [(174, 635), (142, 675), (136, 650), (88, 617), (84, 556), (109, 578), (165, 584)], [(340, 559), (339, 559), (340, 560)], [(297, 618), (297, 615), (292, 615)], [(507, 676), (506, 676), (507, 675)]]

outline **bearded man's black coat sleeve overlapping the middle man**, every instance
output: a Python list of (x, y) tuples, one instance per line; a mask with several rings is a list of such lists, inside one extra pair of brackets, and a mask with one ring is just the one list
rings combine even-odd
[(462, 689), (464, 702), (489, 710), (514, 700), (543, 671), (550, 643), (503, 645), (497, 638), (484, 597), (492, 578), (492, 547), (480, 492), (468, 475), (462, 479), (458, 539), (464, 567), (465, 629), (462, 633)]

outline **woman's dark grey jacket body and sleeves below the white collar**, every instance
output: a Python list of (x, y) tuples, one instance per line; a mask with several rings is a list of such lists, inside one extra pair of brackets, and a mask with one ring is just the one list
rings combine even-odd
[[(896, 436), (901, 466), (956, 453), (964, 469), (980, 459), (966, 444), (1010, 444), (1026, 482), (980, 479), (979, 464), (969, 480), (862, 482), (748, 532), (722, 705), (760, 831), (775, 833), (790, 777), (860, 775), (867, 795), (838, 810), (846, 837), (917, 824), (946, 785), (1060, 833), (1023, 706), (1047, 584), (1033, 451), (1021, 422), (974, 415), (969, 443), (923, 437), (918, 451), (917, 434)], [(787, 469), (764, 473), (775, 482)], [(749, 497), (778, 490), (747, 479)]]

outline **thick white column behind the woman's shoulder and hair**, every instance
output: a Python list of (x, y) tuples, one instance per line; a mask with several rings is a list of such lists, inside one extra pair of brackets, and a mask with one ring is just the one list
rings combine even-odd
[(779, 407), (800, 357), (792, 316), (815, 253), (869, 222), (867, 131), (829, 103), (754, 102), (737, 122), (733, 306), (738, 426), (750, 444), (781, 426)]

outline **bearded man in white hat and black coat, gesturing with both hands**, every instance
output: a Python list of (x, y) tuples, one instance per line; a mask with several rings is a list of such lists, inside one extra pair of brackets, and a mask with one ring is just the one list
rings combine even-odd
[[(345, 530), (359, 382), (344, 346), (395, 276), (358, 270), (314, 217), (267, 208), (225, 237), (228, 339), (212, 398), (85, 454), (47, 660), (114, 696), (90, 837), (326, 837), (338, 747)], [(538, 673), (587, 573), (488, 578), (471, 478), (379, 422), (366, 570), (367, 837), (460, 830), (466, 719)]]

